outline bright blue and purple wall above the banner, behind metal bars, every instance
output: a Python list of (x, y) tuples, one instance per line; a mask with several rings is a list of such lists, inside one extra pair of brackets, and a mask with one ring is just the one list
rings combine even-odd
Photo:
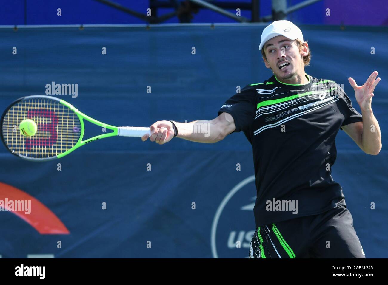
[[(150, 8), (149, 0), (111, 0), (120, 5), (145, 15)], [(175, 0), (180, 3), (185, 0)], [(304, 0), (287, 0), (287, 7), (299, 4)], [(159, 0), (171, 2), (170, 0)], [(215, 5), (219, 2), (234, 2), (234, 9), (229, 12), (236, 14), (240, 8), (239, 2), (249, 3), (250, 0), (215, 0), (209, 1)], [(61, 16), (57, 15), (61, 9)], [(330, 13), (327, 13), (327, 9)], [(272, 1), (259, 1), (260, 17), (271, 15)], [(162, 16), (174, 12), (172, 8), (151, 10), (151, 15)], [(241, 10), (241, 16), (251, 19), (250, 10)], [(331, 24), (331, 25), (388, 25), (388, 5), (381, 5), (381, 0), (320, 0), (302, 9), (288, 14), (288, 20), (294, 24)], [(236, 22), (236, 20), (214, 12), (210, 9), (199, 9), (191, 14), (193, 23), (201, 22)], [(177, 16), (164, 23), (178, 23)], [(144, 24), (145, 21), (120, 10), (114, 9), (95, 0), (50, 0), (3, 1), (0, 9), (0, 25), (52, 25), (52, 24)]]

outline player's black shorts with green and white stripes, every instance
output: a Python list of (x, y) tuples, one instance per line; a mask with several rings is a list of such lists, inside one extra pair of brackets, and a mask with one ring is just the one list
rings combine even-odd
[(345, 206), (256, 228), (249, 258), (365, 258)]

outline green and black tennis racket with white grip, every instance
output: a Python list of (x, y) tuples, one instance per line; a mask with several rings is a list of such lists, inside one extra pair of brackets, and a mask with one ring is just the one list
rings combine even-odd
[[(24, 136), (19, 131), (19, 124), (24, 119), (31, 119), (36, 123), (35, 135)], [(84, 120), (111, 132), (84, 139)], [(58, 159), (87, 143), (109, 136), (151, 135), (150, 128), (104, 124), (62, 99), (45, 95), (17, 99), (5, 110), (0, 122), (1, 138), (5, 146), (12, 154), (31, 161)]]

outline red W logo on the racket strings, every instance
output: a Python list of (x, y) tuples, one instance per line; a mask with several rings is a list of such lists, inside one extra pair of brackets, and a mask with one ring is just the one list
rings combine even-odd
[(38, 131), (48, 131), (50, 133), (49, 138), (29, 138), (26, 140), (26, 149), (31, 149), (31, 147), (51, 147), (54, 143), (57, 142), (57, 131), (55, 127), (58, 124), (58, 117), (54, 111), (47, 109), (33, 109), (28, 110), (27, 117), (32, 119), (33, 117), (42, 116), (47, 117), (51, 120), (50, 123), (37, 123)]

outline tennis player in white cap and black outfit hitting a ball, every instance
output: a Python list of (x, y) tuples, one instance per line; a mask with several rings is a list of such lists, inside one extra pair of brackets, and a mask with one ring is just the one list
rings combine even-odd
[[(253, 148), (257, 189), (250, 258), (365, 258), (331, 167), (339, 130), (367, 154), (381, 149), (371, 108), (378, 72), (362, 86), (349, 78), (360, 114), (336, 82), (305, 73), (310, 49), (292, 22), (267, 26), (259, 49), (273, 73), (268, 80), (245, 86), (211, 121), (152, 124), (150, 140), (164, 144), (177, 136), (215, 143), (244, 132)], [(207, 124), (210, 135), (193, 131), (196, 124)]]

